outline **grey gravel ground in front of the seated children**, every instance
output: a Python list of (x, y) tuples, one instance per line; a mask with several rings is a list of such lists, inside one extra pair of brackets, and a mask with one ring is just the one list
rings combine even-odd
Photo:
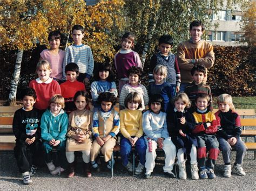
[[(247, 152), (244, 160), (246, 176), (232, 174), (231, 178), (224, 178), (222, 155), (220, 154), (215, 166), (217, 179), (215, 180), (192, 180), (190, 173), (187, 180), (170, 179), (163, 175), (162, 164), (158, 164), (151, 179), (143, 179), (143, 175), (131, 176), (126, 173), (120, 165), (120, 161), (114, 169), (114, 178), (110, 178), (110, 172), (104, 171), (93, 173), (91, 178), (85, 178), (82, 172), (82, 165), (78, 164), (76, 176), (73, 179), (66, 178), (63, 173), (60, 176), (49, 174), (44, 166), (38, 169), (33, 176), (32, 185), (26, 186), (22, 183), (21, 174), (16, 169), (16, 161), (13, 152), (0, 153), (0, 190), (133, 190), (133, 189), (185, 189), (185, 190), (256, 190), (256, 160), (253, 159), (253, 152)], [(78, 156), (78, 161), (80, 161)], [(163, 162), (160, 160), (160, 162)], [(232, 159), (234, 162), (234, 159)], [(178, 171), (178, 167), (177, 167)], [(187, 172), (190, 171), (187, 168)]]

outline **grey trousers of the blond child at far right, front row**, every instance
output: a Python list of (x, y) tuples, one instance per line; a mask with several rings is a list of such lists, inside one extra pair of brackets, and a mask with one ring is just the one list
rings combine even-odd
[(242, 142), (241, 138), (237, 139), (237, 143), (235, 143), (234, 146), (231, 146), (226, 139), (222, 137), (218, 137), (219, 141), (219, 149), (222, 151), (223, 154), (223, 160), (225, 163), (230, 163), (231, 159), (231, 150), (234, 148), (235, 151), (237, 151), (237, 156), (235, 158), (235, 162), (239, 165), (242, 164), (242, 160), (245, 157), (246, 153), (246, 146), (244, 142)]

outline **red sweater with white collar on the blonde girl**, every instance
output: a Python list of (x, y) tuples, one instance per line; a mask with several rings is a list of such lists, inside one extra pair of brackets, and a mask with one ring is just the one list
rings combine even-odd
[(42, 82), (39, 78), (29, 82), (29, 87), (36, 91), (35, 108), (43, 110), (49, 106), (51, 97), (55, 94), (61, 94), (59, 83), (52, 78)]

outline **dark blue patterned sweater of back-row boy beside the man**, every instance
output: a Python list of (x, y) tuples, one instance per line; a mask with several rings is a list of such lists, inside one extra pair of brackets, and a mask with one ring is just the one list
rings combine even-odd
[(150, 73), (153, 73), (154, 67), (163, 65), (167, 68), (166, 82), (180, 86), (180, 70), (177, 58), (170, 53), (168, 56), (162, 55), (160, 52), (154, 54), (150, 60)]

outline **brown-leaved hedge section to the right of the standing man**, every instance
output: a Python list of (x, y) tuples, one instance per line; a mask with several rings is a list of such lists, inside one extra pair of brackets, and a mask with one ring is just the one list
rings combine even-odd
[(214, 96), (255, 95), (253, 52), (253, 48), (245, 46), (214, 46), (215, 62), (208, 70), (207, 80)]

